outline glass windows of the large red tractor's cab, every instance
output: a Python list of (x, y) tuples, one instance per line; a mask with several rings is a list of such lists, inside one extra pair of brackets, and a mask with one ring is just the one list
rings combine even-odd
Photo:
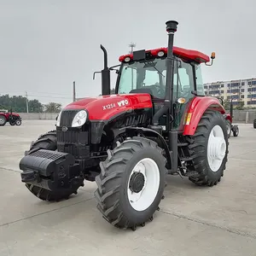
[[(174, 65), (173, 97), (191, 98), (194, 90), (193, 66), (178, 59)], [(204, 94), (200, 65), (195, 67), (200, 95)], [(202, 90), (201, 90), (202, 87)], [(166, 59), (136, 61), (123, 64), (119, 79), (119, 94), (146, 92), (155, 98), (166, 96)]]

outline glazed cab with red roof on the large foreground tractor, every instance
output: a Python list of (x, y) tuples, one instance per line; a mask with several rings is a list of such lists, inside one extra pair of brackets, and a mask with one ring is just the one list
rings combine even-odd
[[(167, 48), (138, 50), (133, 54), (121, 55), (116, 94), (148, 93), (154, 105), (154, 113), (169, 99), (166, 86)], [(212, 60), (214, 53), (212, 53)], [(173, 105), (173, 128), (183, 130), (185, 108), (195, 96), (205, 96), (201, 63), (209, 61), (201, 52), (173, 47), (173, 88), (170, 103)], [(165, 130), (166, 115), (160, 117)]]

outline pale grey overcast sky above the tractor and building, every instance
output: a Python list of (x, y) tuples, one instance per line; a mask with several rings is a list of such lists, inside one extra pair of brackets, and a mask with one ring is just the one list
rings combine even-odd
[[(40, 102), (97, 96), (103, 67), (136, 49), (166, 46), (166, 20), (179, 22), (175, 45), (216, 52), (202, 67), (204, 82), (256, 77), (256, 2), (253, 0), (0, 0), (0, 94)], [(115, 75), (112, 76), (114, 86)]]

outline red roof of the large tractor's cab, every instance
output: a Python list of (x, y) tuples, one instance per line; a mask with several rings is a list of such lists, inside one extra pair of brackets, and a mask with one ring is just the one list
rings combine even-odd
[[(167, 48), (159, 48), (159, 49), (148, 49), (146, 52), (150, 52), (151, 55), (157, 56), (157, 54), (163, 51), (165, 54), (167, 54)], [(196, 61), (197, 63), (205, 63), (210, 61), (210, 58), (208, 55), (205, 55), (201, 53), (200, 51), (194, 50), (194, 49), (183, 49), (180, 47), (173, 46), (173, 55), (177, 55), (177, 57), (180, 57), (181, 59), (188, 60), (188, 61)], [(119, 61), (123, 62), (125, 61), (126, 57), (130, 57), (131, 61), (133, 59), (132, 54), (128, 55), (121, 55), (119, 57)]]

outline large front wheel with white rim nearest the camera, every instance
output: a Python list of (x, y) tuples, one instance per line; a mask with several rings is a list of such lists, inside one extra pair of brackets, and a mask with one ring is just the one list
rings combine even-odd
[(96, 177), (97, 208), (120, 229), (144, 225), (159, 209), (166, 186), (166, 158), (157, 143), (133, 137), (119, 143), (101, 162)]

